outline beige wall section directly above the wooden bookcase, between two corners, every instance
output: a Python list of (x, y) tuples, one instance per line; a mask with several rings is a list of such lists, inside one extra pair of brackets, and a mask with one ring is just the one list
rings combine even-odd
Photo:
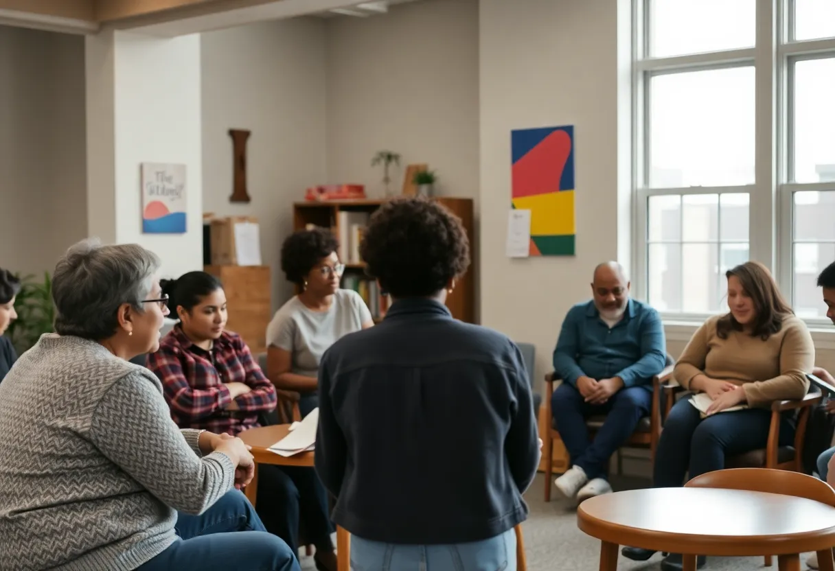
[(478, 0), (425, 0), (370, 18), (327, 21), (327, 167), (332, 182), (382, 197), (377, 151), (392, 171), (438, 170), (439, 195), (478, 201)]

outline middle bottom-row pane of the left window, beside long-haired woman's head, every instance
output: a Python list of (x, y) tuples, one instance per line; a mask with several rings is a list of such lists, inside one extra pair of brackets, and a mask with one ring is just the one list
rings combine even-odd
[(710, 313), (719, 306), (719, 255), (716, 244), (681, 246), (683, 284), (681, 299), (685, 313)]

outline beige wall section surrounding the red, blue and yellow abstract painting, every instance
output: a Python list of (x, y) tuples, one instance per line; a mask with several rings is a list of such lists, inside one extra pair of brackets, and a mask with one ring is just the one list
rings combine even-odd
[[(534, 343), (541, 376), (566, 311), (590, 297), (594, 266), (617, 257), (624, 230), (617, 3), (481, 0), (479, 17), (482, 323)], [(511, 260), (510, 131), (564, 124), (576, 139), (576, 255)]]

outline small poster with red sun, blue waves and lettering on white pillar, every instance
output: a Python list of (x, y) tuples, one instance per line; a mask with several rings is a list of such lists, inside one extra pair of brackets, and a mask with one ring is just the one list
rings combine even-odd
[(185, 164), (143, 163), (142, 231), (185, 234)]

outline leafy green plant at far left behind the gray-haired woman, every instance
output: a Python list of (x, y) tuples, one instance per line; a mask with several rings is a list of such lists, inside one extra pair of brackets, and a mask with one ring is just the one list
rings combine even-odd
[(55, 331), (55, 306), (49, 273), (43, 272), (43, 281), (36, 280), (34, 275), (27, 275), (20, 281), (20, 291), (14, 301), (18, 319), (9, 324), (7, 331), (18, 355), (32, 348), (44, 333)]

